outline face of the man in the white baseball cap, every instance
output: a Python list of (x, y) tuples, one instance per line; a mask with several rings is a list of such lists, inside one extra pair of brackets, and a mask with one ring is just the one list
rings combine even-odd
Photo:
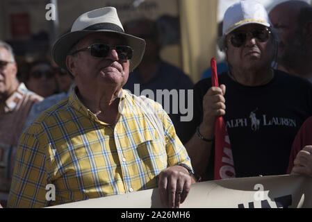
[[(236, 69), (258, 69), (265, 66), (270, 66), (274, 57), (274, 45), (270, 34), (268, 40), (259, 40), (257, 37), (252, 37), (252, 33), (262, 33), (265, 26), (259, 24), (247, 24), (237, 28), (232, 33), (227, 35), (227, 59), (229, 65)], [(241, 46), (233, 46), (231, 37), (234, 34), (247, 33), (247, 38)], [(263, 36), (263, 34), (261, 34)]]

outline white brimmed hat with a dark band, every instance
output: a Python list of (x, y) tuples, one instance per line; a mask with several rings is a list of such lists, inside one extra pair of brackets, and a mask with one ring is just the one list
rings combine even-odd
[(61, 36), (54, 43), (52, 57), (56, 64), (67, 69), (66, 56), (72, 46), (83, 37), (91, 33), (117, 33), (126, 39), (126, 42), (133, 49), (133, 57), (130, 60), (130, 71), (135, 69), (141, 62), (145, 52), (145, 40), (133, 35), (124, 33), (124, 28), (117, 15), (116, 8), (105, 7), (85, 12), (79, 16), (69, 33)]

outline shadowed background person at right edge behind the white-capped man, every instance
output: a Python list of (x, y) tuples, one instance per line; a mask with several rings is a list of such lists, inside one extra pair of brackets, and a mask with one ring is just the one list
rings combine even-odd
[(304, 1), (285, 1), (269, 13), (279, 31), (277, 69), (312, 81), (312, 6)]

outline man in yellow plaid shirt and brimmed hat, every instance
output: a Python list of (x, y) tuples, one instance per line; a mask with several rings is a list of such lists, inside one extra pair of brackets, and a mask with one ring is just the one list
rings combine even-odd
[[(9, 207), (46, 207), (157, 185), (165, 207), (183, 203), (192, 167), (172, 121), (160, 104), (122, 89), (144, 51), (145, 41), (124, 33), (112, 7), (85, 12), (60, 37), (53, 57), (74, 76), (76, 88), (22, 135)], [(49, 184), (55, 200), (46, 198)]]

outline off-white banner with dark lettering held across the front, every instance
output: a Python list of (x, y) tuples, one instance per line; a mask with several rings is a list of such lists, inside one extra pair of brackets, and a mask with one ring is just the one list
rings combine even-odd
[[(158, 189), (57, 205), (59, 208), (161, 207)], [(312, 178), (299, 175), (263, 176), (198, 182), (181, 208), (312, 207)]]

